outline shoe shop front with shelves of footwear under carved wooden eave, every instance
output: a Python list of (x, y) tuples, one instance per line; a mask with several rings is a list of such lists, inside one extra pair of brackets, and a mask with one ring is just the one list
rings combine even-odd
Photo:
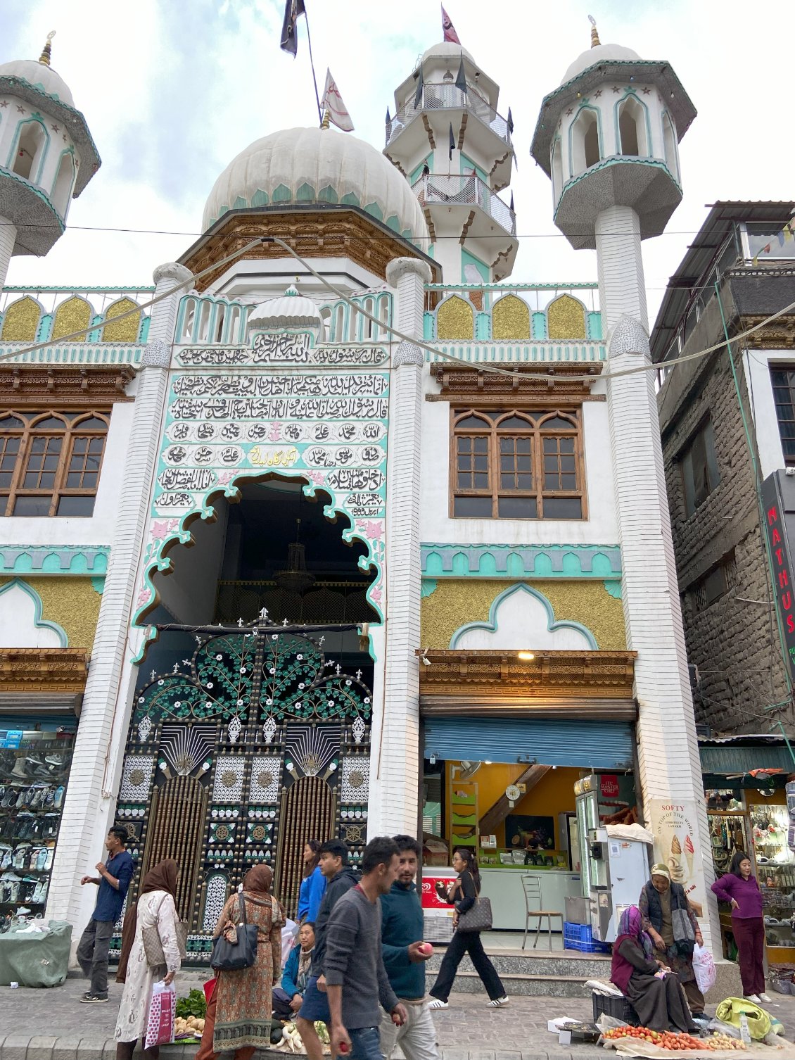
[(45, 918), (87, 655), (0, 650), (0, 931)]

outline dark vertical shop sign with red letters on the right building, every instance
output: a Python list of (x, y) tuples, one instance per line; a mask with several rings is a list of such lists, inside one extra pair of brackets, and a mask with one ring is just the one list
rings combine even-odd
[(795, 584), (791, 549), (791, 542), (795, 542), (795, 484), (783, 472), (776, 471), (762, 482), (762, 507), (776, 611), (790, 677), (795, 681)]

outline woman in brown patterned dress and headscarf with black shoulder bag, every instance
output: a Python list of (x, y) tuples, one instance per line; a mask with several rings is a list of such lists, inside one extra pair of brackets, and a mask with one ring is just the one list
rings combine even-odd
[(257, 960), (236, 972), (218, 971), (207, 1006), (201, 1045), (195, 1060), (215, 1060), (216, 1054), (234, 1050), (235, 1060), (250, 1060), (255, 1049), (270, 1047), (270, 1015), (273, 983), (281, 976), (281, 903), (270, 894), (273, 873), (268, 865), (255, 865), (243, 879), (243, 893), (227, 900), (213, 938), (224, 934), (232, 941), (246, 903), (246, 921), (257, 924)]

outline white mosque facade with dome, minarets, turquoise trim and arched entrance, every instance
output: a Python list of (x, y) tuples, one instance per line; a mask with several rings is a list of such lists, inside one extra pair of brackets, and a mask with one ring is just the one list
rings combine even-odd
[[(597, 251), (561, 287), (513, 276), (513, 122), (473, 56), (430, 48), (393, 103), (383, 152), (252, 143), (152, 285), (2, 288), (0, 914), (82, 925), (112, 824), (180, 861), (197, 955), (250, 864), (294, 903), (315, 836), (495, 871), (541, 837), (576, 894), (591, 776), (708, 936), (653, 375), (624, 371), (694, 109), (598, 37), (544, 98), (554, 222)], [(0, 108), (5, 282), (100, 157), (49, 42)]]

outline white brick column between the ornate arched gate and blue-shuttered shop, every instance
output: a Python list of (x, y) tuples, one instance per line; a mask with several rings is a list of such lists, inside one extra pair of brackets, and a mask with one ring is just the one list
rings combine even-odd
[[(422, 335), (430, 268), (413, 258), (387, 266), (396, 287), (395, 326)], [(417, 834), (420, 782), (420, 414), (423, 355), (412, 342), (392, 354), (387, 469), (387, 597), (384, 696), (372, 726), (369, 834)], [(377, 666), (378, 664), (376, 664)]]

